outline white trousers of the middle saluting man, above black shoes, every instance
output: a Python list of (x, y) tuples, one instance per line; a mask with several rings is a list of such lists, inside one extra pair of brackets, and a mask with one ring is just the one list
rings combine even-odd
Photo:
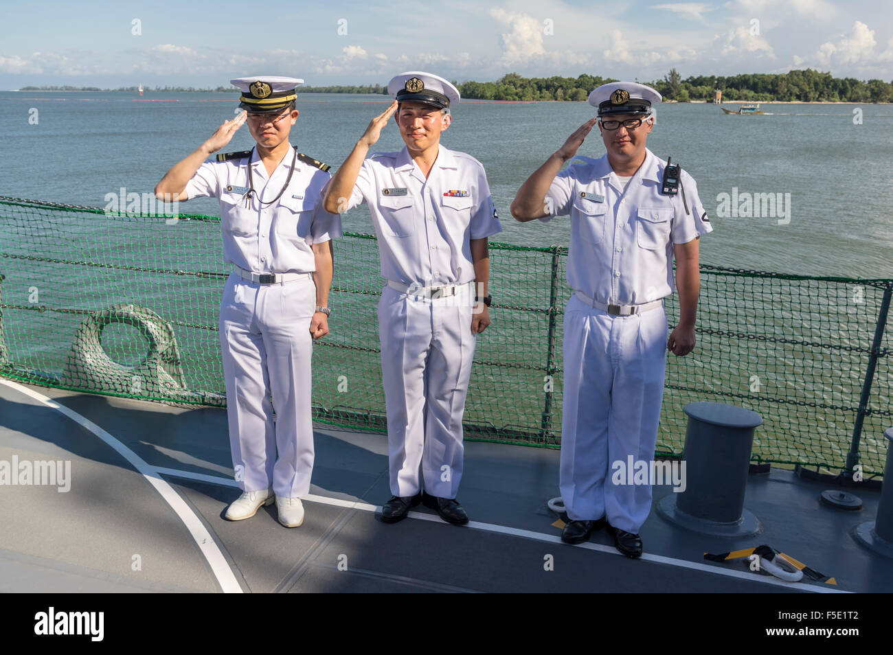
[(379, 301), (381, 378), (388, 414), (390, 490), (455, 498), (463, 471), (462, 417), (472, 374), (471, 286), (430, 300), (385, 286)]

